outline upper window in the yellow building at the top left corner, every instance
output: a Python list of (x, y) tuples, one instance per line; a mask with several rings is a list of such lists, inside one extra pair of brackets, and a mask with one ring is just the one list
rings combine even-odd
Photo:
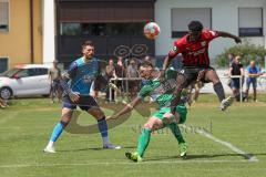
[(9, 0), (0, 0), (0, 31), (9, 30)]

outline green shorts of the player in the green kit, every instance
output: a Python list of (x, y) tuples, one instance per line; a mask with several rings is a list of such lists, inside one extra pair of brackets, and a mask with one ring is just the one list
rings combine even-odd
[[(164, 122), (163, 115), (164, 115), (165, 113), (170, 113), (170, 112), (171, 112), (171, 107), (162, 107), (162, 108), (160, 108), (158, 111), (156, 111), (156, 112), (153, 114), (153, 116), (154, 116), (154, 117), (157, 117), (157, 118), (160, 118), (160, 119), (162, 119), (162, 121)], [(185, 121), (186, 121), (186, 114), (187, 114), (186, 106), (185, 106), (185, 105), (178, 105), (178, 106), (176, 106), (176, 113), (178, 113), (178, 114), (180, 114), (180, 117), (181, 117), (178, 124), (185, 123)]]

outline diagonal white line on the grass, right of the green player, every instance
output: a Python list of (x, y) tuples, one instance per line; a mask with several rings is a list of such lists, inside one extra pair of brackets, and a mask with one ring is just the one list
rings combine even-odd
[[(183, 128), (186, 128), (186, 129), (190, 129), (191, 131), (191, 127), (186, 126), (186, 125), (180, 125), (182, 126)], [(239, 149), (238, 147), (234, 146), (233, 144), (228, 143), (228, 142), (225, 142), (225, 140), (222, 140), (215, 136), (213, 136), (212, 134), (207, 133), (206, 131), (203, 131), (203, 129), (195, 129), (196, 133), (198, 133), (200, 135), (202, 136), (205, 136), (216, 143), (219, 143), (226, 147), (228, 147), (229, 149), (232, 149), (233, 152), (244, 156), (248, 162), (258, 162), (257, 157), (254, 156), (254, 155), (250, 155), (242, 149)]]

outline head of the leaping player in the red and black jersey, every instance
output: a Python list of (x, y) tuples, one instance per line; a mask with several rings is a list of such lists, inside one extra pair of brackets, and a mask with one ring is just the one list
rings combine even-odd
[(203, 24), (201, 21), (191, 21), (188, 23), (188, 35), (192, 41), (197, 41), (201, 38)]

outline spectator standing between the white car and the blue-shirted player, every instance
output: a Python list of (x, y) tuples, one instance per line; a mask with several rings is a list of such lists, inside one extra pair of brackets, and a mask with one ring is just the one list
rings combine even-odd
[(49, 79), (51, 81), (51, 88), (50, 88), (50, 97), (51, 102), (54, 103), (54, 97), (57, 96), (59, 102), (61, 101), (62, 96), (62, 88), (60, 85), (60, 79), (61, 79), (61, 71), (58, 67), (58, 61), (53, 61), (53, 66), (49, 69), (48, 71)]

